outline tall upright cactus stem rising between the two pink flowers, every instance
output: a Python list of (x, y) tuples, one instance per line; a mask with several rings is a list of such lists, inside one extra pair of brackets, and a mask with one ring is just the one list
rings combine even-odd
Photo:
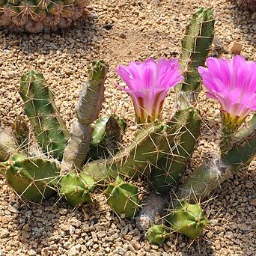
[(210, 8), (201, 7), (192, 16), (182, 41), (180, 65), (185, 79), (177, 91), (180, 93), (180, 106), (194, 103), (201, 91), (201, 77), (198, 67), (204, 66), (210, 46), (213, 42), (214, 19)]

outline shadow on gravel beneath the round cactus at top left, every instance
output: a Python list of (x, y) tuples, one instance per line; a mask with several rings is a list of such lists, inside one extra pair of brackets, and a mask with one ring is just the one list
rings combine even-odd
[(93, 53), (96, 48), (95, 42), (100, 33), (106, 31), (97, 24), (97, 16), (88, 13), (70, 25), (69, 28), (58, 28), (46, 30), (37, 34), (31, 34), (21, 29), (0, 27), (2, 50), (5, 54), (13, 52), (18, 57), (18, 52), (25, 54), (25, 57), (32, 57), (31, 60), (38, 58), (38, 55), (55, 54), (57, 51), (76, 55), (85, 51), (86, 55)]

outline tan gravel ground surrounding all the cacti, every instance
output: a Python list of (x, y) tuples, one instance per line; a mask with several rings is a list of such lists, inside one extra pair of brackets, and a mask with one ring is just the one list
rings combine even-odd
[[(129, 138), (135, 128), (133, 110), (129, 97), (113, 85), (118, 82), (115, 67), (148, 57), (178, 57), (186, 22), (208, 1), (91, 2), (88, 17), (65, 31), (22, 34), (1, 29), (1, 127), (10, 127), (17, 115), (23, 115), (19, 77), (30, 68), (43, 72), (70, 127), (86, 67), (100, 58), (110, 66), (103, 112), (115, 111), (127, 118)], [(222, 56), (231, 57), (231, 46), (239, 42), (242, 54), (256, 61), (256, 13), (239, 10), (235, 1), (215, 0), (211, 5)], [(199, 104), (205, 125), (188, 174), (204, 152), (216, 150), (218, 142), (219, 106), (204, 94)], [(170, 93), (166, 118), (172, 106)], [(76, 210), (58, 198), (40, 206), (19, 200), (0, 177), (0, 255), (255, 255), (255, 169), (252, 162), (248, 171), (239, 171), (216, 191), (204, 207), (212, 225), (202, 237), (192, 243), (174, 236), (162, 247), (143, 240), (135, 222), (115, 216), (103, 195), (95, 195), (94, 204)]]

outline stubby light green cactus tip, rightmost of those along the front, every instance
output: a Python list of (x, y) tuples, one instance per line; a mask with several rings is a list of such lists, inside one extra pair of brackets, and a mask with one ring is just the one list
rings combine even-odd
[(172, 230), (191, 239), (198, 237), (208, 225), (208, 220), (204, 217), (200, 204), (189, 204), (186, 201), (180, 201), (179, 205), (165, 219), (171, 225)]

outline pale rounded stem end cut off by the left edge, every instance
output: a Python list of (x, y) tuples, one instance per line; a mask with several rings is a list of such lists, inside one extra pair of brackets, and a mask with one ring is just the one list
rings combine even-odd
[(15, 152), (16, 143), (12, 135), (0, 129), (0, 162), (6, 161)]

